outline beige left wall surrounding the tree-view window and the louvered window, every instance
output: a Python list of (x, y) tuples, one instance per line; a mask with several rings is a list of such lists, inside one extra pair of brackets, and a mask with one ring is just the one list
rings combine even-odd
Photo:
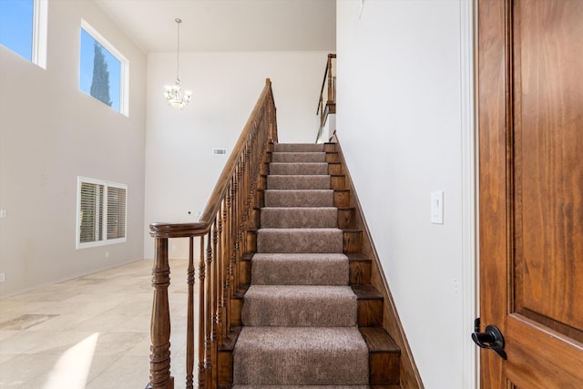
[[(129, 61), (129, 117), (79, 90), (81, 18)], [(92, 1), (48, 2), (46, 69), (0, 46), (0, 296), (143, 258), (146, 55)], [(128, 184), (125, 243), (76, 250), (77, 176)]]

